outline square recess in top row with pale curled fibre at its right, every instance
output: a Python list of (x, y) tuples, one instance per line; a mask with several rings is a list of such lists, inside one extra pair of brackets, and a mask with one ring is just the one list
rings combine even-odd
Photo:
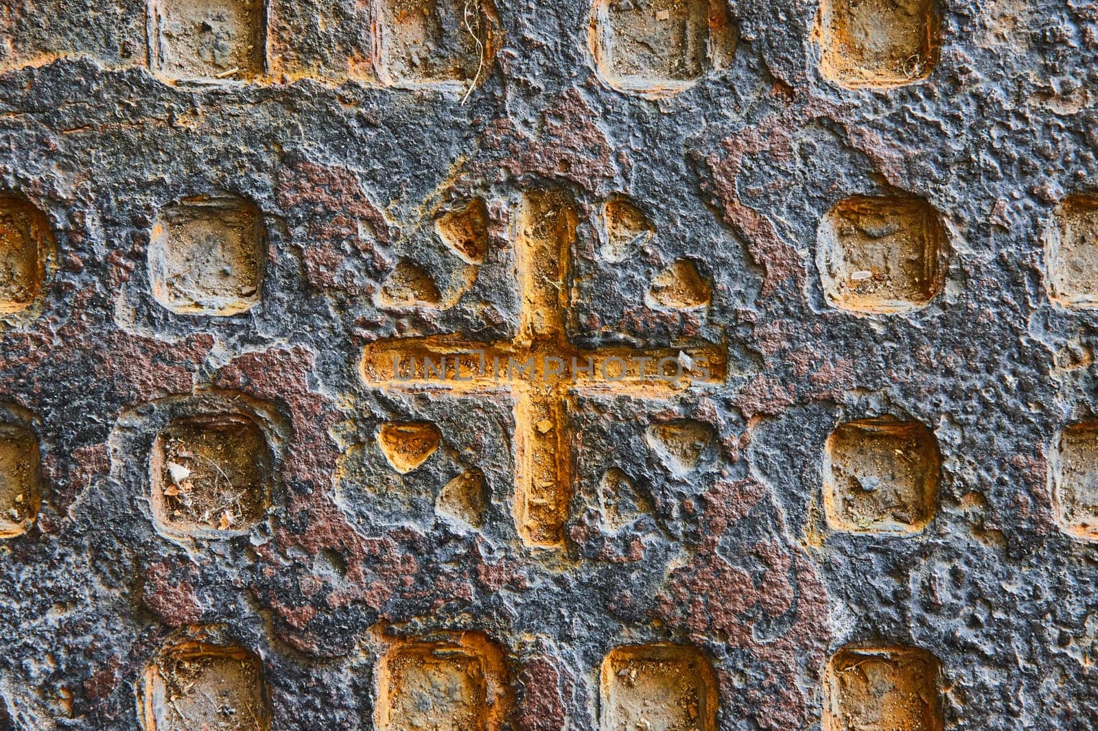
[(491, 71), (490, 0), (373, 0), (378, 75), (390, 86), (475, 82)]

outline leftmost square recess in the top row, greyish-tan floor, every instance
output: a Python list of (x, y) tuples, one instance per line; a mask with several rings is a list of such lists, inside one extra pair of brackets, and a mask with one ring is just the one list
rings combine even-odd
[(262, 0), (152, 0), (149, 59), (171, 80), (231, 81), (262, 76)]

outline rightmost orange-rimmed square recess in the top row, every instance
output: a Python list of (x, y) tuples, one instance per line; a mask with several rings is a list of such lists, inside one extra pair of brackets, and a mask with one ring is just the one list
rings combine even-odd
[(930, 76), (938, 63), (934, 0), (822, 0), (820, 74), (848, 89), (889, 89)]

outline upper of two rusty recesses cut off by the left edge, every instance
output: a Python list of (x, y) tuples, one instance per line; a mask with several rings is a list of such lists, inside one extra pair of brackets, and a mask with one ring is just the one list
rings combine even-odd
[(46, 216), (11, 195), (0, 195), (0, 315), (26, 310), (42, 290), (51, 241)]

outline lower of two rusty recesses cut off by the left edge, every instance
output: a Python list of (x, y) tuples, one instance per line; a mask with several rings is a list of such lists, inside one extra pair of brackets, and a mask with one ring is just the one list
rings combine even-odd
[(0, 424), (0, 538), (26, 532), (42, 504), (42, 459), (30, 429)]

